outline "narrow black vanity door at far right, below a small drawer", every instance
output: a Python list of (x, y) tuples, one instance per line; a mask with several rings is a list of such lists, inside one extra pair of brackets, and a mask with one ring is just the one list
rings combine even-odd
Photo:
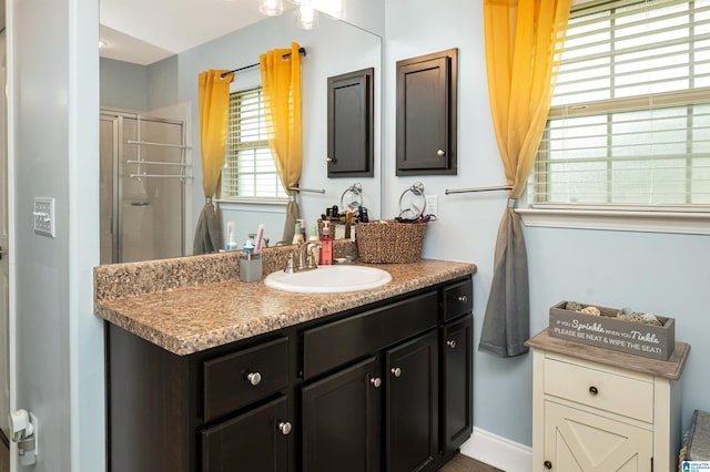
[(474, 319), (445, 325), (442, 329), (442, 430), (444, 455), (466, 441), (474, 430), (473, 361)]

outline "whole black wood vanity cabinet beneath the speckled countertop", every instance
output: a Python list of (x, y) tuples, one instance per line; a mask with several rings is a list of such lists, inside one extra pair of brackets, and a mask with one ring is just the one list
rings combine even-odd
[(471, 433), (470, 277), (176, 356), (106, 324), (109, 470), (437, 470)]

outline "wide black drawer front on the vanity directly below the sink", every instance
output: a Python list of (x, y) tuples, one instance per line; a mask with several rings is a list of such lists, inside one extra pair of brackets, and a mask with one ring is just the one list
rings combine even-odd
[(303, 334), (303, 373), (308, 379), (435, 328), (436, 291), (375, 308)]

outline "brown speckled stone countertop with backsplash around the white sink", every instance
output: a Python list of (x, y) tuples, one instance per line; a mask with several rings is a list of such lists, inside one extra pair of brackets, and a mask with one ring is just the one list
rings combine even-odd
[[(347, 254), (336, 245), (335, 256)], [(286, 250), (264, 249), (264, 276), (285, 267)], [(242, 283), (233, 253), (94, 269), (95, 315), (175, 355), (333, 315), (476, 273), (468, 263), (423, 259), (377, 264), (392, 281), (366, 291), (293, 294)]]

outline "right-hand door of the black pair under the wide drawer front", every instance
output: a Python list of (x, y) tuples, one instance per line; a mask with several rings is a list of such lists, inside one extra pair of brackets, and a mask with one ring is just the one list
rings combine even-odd
[(386, 352), (387, 471), (409, 472), (437, 456), (438, 331)]

